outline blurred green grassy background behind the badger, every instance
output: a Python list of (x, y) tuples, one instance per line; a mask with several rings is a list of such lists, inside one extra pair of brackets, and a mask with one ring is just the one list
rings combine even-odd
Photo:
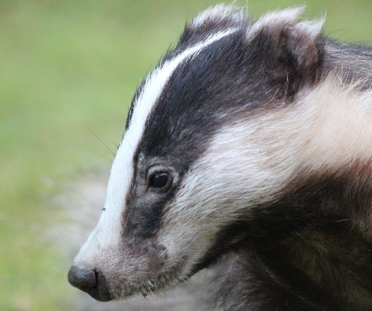
[[(219, 2), (0, 2), (0, 310), (71, 308), (66, 253), (48, 239), (61, 207), (50, 202), (65, 183), (110, 166), (92, 131), (115, 150), (140, 78), (186, 19)], [(302, 3), (251, 0), (249, 11)], [(306, 4), (310, 17), (327, 13), (328, 35), (372, 41), (371, 0)]]

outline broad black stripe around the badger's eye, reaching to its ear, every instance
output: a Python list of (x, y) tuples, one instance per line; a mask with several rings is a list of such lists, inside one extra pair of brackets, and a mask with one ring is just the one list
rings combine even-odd
[[(156, 232), (163, 208), (176, 195), (182, 176), (219, 128), (249, 119), (257, 109), (277, 109), (283, 101), (291, 101), (287, 96), (292, 97), (301, 84), (296, 80), (301, 74), (288, 76), (295, 66), (288, 51), (278, 51), (277, 42), (265, 32), (251, 41), (246, 32), (246, 28), (238, 29), (184, 60), (158, 97), (138, 144), (134, 161), (138, 173), (127, 199), (128, 228), (139, 235)], [(192, 44), (182, 42), (181, 46)], [(179, 55), (181, 46), (170, 55)], [(148, 194), (151, 165), (177, 176), (169, 193)]]

